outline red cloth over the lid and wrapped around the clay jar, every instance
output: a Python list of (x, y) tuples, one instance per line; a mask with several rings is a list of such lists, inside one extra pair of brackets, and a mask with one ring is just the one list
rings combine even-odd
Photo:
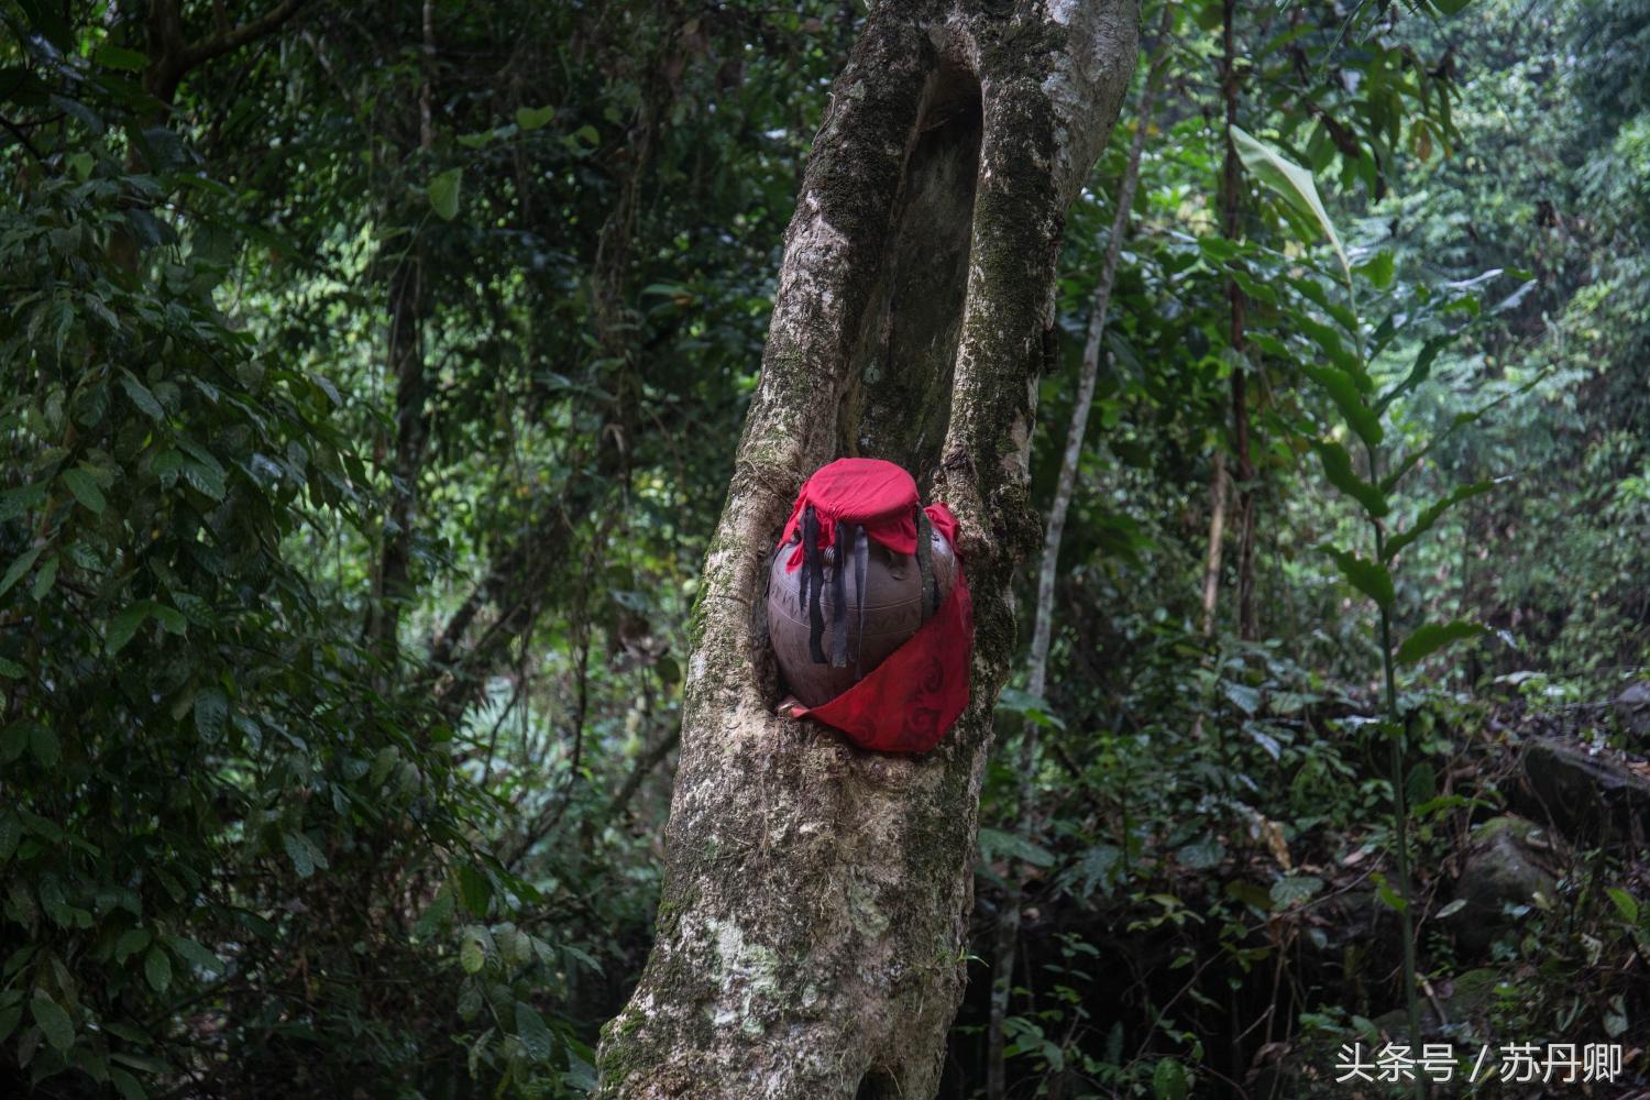
[[(917, 505), (917, 487), (911, 475), (893, 462), (838, 458), (820, 467), (802, 485), (779, 548), (792, 539), (807, 505), (813, 505), (820, 521), (820, 548), (835, 541), (835, 523), (843, 519), (865, 524), (868, 538), (899, 554), (916, 552), (916, 518), (911, 513)], [(950, 510), (945, 505), (929, 505), (922, 511), (955, 551), (957, 518)], [(800, 564), (799, 543), (787, 567), (797, 569)], [(782, 712), (789, 717), (812, 717), (840, 729), (861, 749), (927, 752), (969, 706), (972, 651), (974, 602), (962, 572), (962, 554), (957, 554), (957, 581), (939, 613), (922, 623), (865, 679), (830, 703), (805, 707), (792, 699)]]

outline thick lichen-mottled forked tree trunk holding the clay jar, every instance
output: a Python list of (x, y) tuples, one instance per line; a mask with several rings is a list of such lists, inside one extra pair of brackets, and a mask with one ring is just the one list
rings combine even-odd
[[(1064, 211), (1134, 0), (883, 0), (813, 143), (705, 562), (657, 942), (602, 1097), (927, 1097), (962, 998), (980, 777), (1036, 544), (1026, 462)], [(906, 465), (962, 519), (972, 701), (922, 757), (779, 719), (764, 564), (802, 480)]]

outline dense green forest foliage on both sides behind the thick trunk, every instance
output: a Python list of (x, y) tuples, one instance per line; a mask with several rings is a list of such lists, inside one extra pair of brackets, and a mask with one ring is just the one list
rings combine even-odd
[[(866, 18), (0, 5), (5, 1092), (594, 1088)], [(1384, 1095), (1336, 1051), (1421, 1032), (1634, 1095), (1650, 3), (1140, 25), (942, 1095)]]

